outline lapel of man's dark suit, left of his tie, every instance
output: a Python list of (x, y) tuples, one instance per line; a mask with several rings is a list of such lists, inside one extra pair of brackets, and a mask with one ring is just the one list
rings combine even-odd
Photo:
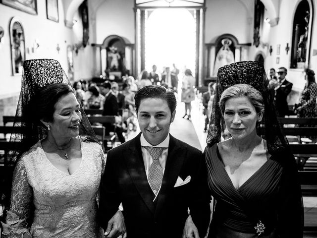
[(144, 168), (140, 136), (141, 133), (131, 140), (129, 150), (124, 152), (124, 157), (131, 179), (150, 211), (154, 213), (153, 191), (149, 185)]

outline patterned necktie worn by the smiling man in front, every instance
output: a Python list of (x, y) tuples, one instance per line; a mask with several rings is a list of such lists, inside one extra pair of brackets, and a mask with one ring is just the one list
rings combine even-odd
[(163, 179), (163, 168), (159, 163), (159, 157), (162, 154), (164, 148), (149, 146), (144, 147), (147, 149), (153, 159), (153, 163), (151, 164), (149, 169), (148, 179), (154, 194), (157, 195)]

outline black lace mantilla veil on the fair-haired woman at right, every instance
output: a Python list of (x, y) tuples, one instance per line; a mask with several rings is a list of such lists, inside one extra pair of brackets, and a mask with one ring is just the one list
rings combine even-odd
[[(257, 122), (257, 134), (266, 140), (269, 154), (273, 155), (274, 160), (279, 161), (284, 168), (281, 184), (285, 190), (283, 190), (283, 195), (280, 197), (282, 201), (276, 201), (276, 204), (279, 204), (282, 210), (279, 213), (280, 224), (278, 226), (280, 234), (283, 234), (281, 237), (302, 237), (304, 214), (298, 169), (288, 141), (282, 132), (282, 126), (277, 119), (275, 104), (272, 94), (269, 92), (268, 79), (263, 63), (241, 61), (219, 68), (205, 151), (221, 141), (224, 119), (219, 108), (219, 100), (222, 92), (228, 87), (240, 83), (250, 84), (262, 93), (264, 115), (261, 123)], [(207, 161), (208, 165), (209, 163)]]

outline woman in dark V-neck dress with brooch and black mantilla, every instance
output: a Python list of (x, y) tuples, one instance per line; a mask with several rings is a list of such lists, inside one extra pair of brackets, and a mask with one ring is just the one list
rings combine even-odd
[[(221, 130), (231, 138), (220, 141)], [(221, 67), (207, 137), (209, 238), (302, 238), (298, 171), (262, 63)]]

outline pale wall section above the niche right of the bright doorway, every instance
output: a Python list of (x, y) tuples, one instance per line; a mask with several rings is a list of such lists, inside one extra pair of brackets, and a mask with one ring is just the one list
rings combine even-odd
[(252, 42), (253, 13), (241, 1), (207, 0), (206, 7), (205, 43), (214, 43), (227, 33), (234, 35), (240, 44)]

